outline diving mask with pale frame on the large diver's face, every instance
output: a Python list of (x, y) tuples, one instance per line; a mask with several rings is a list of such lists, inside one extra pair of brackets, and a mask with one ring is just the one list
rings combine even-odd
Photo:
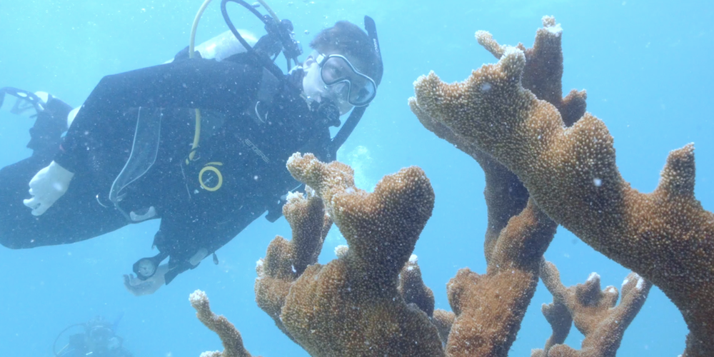
[(373, 79), (358, 71), (345, 56), (320, 54), (316, 59), (320, 76), (328, 87), (343, 84), (338, 90), (341, 99), (353, 106), (366, 106), (377, 94)]

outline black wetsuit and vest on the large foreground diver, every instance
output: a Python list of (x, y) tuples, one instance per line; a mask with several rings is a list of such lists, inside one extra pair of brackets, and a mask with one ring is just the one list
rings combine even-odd
[[(131, 223), (109, 201), (109, 191), (129, 158), (137, 117), (161, 117), (156, 162), (124, 190), (119, 206), (124, 212), (155, 208), (161, 228), (154, 243), (171, 257), (171, 281), (191, 268), (187, 260), (198, 249), (216, 251), (298, 185), (285, 167), (293, 152), (333, 156), (328, 127), (338, 119), (308, 107), (301, 98), (302, 77), (298, 70), (277, 79), (243, 55), (104, 77), (54, 157), (34, 154), (0, 171), (0, 243), (72, 243)], [(203, 114), (201, 141), (194, 161), (186, 164), (193, 108)], [(22, 203), (29, 198), (28, 182), (53, 159), (75, 176), (54, 206), (32, 216)], [(215, 170), (203, 170), (208, 166)]]

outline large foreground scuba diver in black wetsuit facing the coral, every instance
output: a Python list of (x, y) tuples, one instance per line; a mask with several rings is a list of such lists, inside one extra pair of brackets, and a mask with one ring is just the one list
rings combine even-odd
[[(248, 44), (227, 2), (253, 11), (268, 34)], [(199, 11), (191, 46), (173, 61), (105, 76), (78, 109), (0, 89), (0, 104), (36, 114), (33, 154), (0, 170), (2, 245), (74, 243), (160, 218), (159, 253), (124, 276), (131, 293), (153, 293), (207, 256), (218, 263), (216, 250), (266, 211), (281, 216), (299, 184), (286, 169), (291, 154), (336, 159), (381, 81), (374, 21), (365, 16), (366, 31), (348, 21), (323, 29), (299, 64), (290, 21), (241, 0), (221, 10), (241, 51), (220, 60), (215, 46), (193, 47)], [(281, 51), (287, 74), (274, 62)], [(331, 126), (341, 126), (334, 137)]]

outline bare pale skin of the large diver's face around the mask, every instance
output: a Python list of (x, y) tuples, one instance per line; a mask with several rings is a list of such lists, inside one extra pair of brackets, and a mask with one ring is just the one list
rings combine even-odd
[(313, 52), (303, 64), (303, 93), (308, 101), (321, 102), (323, 99), (331, 99), (340, 110), (340, 115), (346, 114), (354, 108), (346, 101), (346, 91), (348, 84), (340, 83), (327, 86), (322, 80), (320, 65), (315, 61), (316, 52)]

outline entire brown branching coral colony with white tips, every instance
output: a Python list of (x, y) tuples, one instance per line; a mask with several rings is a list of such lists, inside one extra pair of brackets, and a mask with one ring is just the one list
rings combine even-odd
[[(670, 153), (655, 191), (630, 188), (608, 129), (585, 112), (585, 91), (562, 97), (561, 34), (549, 16), (532, 49), (478, 31), (497, 64), (461, 83), (433, 73), (414, 83), (418, 120), (486, 173), (488, 268), (463, 268), (448, 282), (453, 312), (434, 310), (412, 256), (434, 203), (421, 169), (385, 176), (367, 193), (349, 166), (293, 154), (288, 170), (311, 190), (283, 207), (293, 238), (273, 239), (255, 286), (258, 306), (283, 333), (311, 356), (507, 356), (540, 278), (553, 294), (543, 305), (553, 334), (532, 356), (615, 356), (654, 284), (689, 327), (683, 356), (714, 356), (714, 216), (694, 197), (693, 146)], [(333, 223), (348, 247), (321, 265)], [(558, 225), (633, 271), (617, 306), (618, 290), (602, 290), (597, 274), (560, 283), (543, 259)], [(191, 294), (191, 304), (225, 348), (203, 356), (251, 356), (205, 293)], [(585, 336), (580, 350), (563, 344), (573, 324)]]

